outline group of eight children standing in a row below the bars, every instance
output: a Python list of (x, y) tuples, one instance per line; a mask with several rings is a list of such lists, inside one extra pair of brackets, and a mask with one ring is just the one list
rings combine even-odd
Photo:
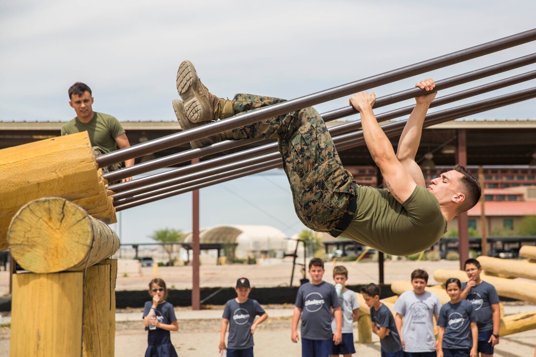
[[(497, 292), (480, 279), (481, 267), (476, 259), (468, 259), (464, 266), (469, 281), (461, 284), (459, 279), (448, 279), (445, 288), (450, 301), (443, 306), (435, 294), (425, 290), (428, 274), (420, 269), (411, 274), (413, 290), (401, 294), (394, 304), (395, 316), (380, 301), (379, 286), (368, 284), (360, 289), (370, 308), (372, 331), (381, 340), (382, 357), (493, 355), (493, 346), (499, 338)], [(332, 285), (322, 280), (322, 259), (313, 258), (309, 262), (309, 274), (311, 281), (300, 286), (296, 295), (291, 340), (299, 341), (297, 325), (301, 317), (303, 357), (351, 356), (355, 353), (353, 322), (359, 317), (359, 303), (355, 293), (345, 286), (347, 269), (340, 265), (334, 267), (335, 285)], [(256, 300), (248, 298), (251, 287), (247, 278), (236, 281), (235, 291), (237, 297), (225, 305), (218, 348), (227, 357), (253, 357), (253, 334), (268, 315)], [(172, 304), (166, 301), (166, 283), (153, 279), (149, 293), (153, 299), (145, 303), (143, 314), (148, 330), (145, 356), (176, 356), (169, 331), (178, 331), (178, 324)], [(260, 317), (256, 319), (257, 316)]]

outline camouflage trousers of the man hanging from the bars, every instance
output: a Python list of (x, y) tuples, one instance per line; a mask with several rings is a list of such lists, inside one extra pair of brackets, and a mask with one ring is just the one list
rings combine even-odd
[[(284, 101), (236, 94), (235, 114)], [(235, 139), (277, 138), (283, 168), (291, 184), (294, 209), (308, 228), (332, 230), (356, 192), (352, 174), (343, 168), (324, 120), (315, 108), (269, 118), (233, 130)]]

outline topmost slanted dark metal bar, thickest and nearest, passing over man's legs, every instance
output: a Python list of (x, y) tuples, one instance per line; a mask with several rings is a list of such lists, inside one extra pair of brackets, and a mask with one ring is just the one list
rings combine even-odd
[(396, 80), (418, 75), (419, 73), (464, 62), (468, 59), (487, 55), (534, 40), (536, 40), (536, 29), (531, 29), (529, 31), (507, 36), (502, 39), (479, 44), (477, 46), (466, 48), (447, 55), (428, 59), (427, 61), (422, 61), (396, 70), (385, 72), (380, 75), (357, 80), (352, 83), (305, 95), (286, 102), (277, 103), (276, 105), (250, 111), (249, 113), (242, 113), (240, 116), (228, 118), (227, 120), (217, 121), (203, 125), (202, 127), (192, 128), (187, 131), (182, 131), (163, 138), (151, 140), (150, 142), (140, 143), (131, 147), (100, 155), (98, 158), (96, 158), (96, 162), (99, 164), (99, 167), (103, 167), (116, 162), (137, 158), (153, 152), (188, 143), (192, 140), (215, 135), (219, 132), (240, 128), (244, 125), (252, 124), (266, 118), (289, 113), (301, 108), (306, 108), (318, 103), (340, 98), (341, 96), (388, 84)]

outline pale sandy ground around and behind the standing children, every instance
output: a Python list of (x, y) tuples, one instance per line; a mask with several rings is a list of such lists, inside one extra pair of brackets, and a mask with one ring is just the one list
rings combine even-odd
[[(378, 266), (376, 263), (340, 263), (349, 271), (348, 284), (365, 284), (378, 281)], [(410, 273), (417, 267), (430, 272), (430, 284), (434, 284), (431, 272), (435, 269), (458, 269), (458, 262), (411, 262), (394, 261), (385, 264), (385, 282), (396, 280), (409, 281)], [(325, 280), (331, 280), (332, 263), (326, 263)], [(166, 280), (168, 287), (191, 288), (191, 267), (160, 267), (160, 277)], [(252, 285), (270, 287), (288, 285), (291, 274), (291, 264), (257, 265), (224, 265), (202, 266), (200, 269), (201, 286), (233, 286), (236, 279), (241, 276), (250, 278)], [(147, 282), (153, 277), (152, 268), (143, 268), (141, 276), (118, 276), (117, 289), (145, 289)], [(300, 272), (295, 273), (295, 284), (301, 278)], [(9, 275), (0, 272), (0, 295), (8, 292)], [(507, 311), (508, 310), (508, 311)], [(511, 304), (507, 314), (528, 312), (536, 310), (536, 306), (517, 306)], [(255, 333), (255, 356), (300, 356), (301, 345), (292, 343), (290, 329), (292, 321), (292, 306), (272, 306), (269, 309), (271, 316), (259, 326)], [(218, 356), (219, 329), (221, 323), (222, 307), (214, 310), (191, 311), (189, 308), (176, 308), (176, 315), (180, 325), (179, 332), (172, 333), (172, 341), (179, 356)], [(9, 314), (4, 315), (3, 322), (10, 321)], [(143, 355), (147, 347), (147, 333), (143, 330), (140, 309), (121, 310), (116, 314), (116, 356)], [(379, 356), (380, 346), (376, 336), (373, 344), (358, 344), (357, 331), (354, 325), (354, 341), (356, 356)], [(9, 355), (8, 326), (0, 324), (0, 357)], [(532, 357), (536, 344), (536, 330), (525, 331), (501, 338), (501, 343), (495, 349), (495, 356), (504, 357)]]

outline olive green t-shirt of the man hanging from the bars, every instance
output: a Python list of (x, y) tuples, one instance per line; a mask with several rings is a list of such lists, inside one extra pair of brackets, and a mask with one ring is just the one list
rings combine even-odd
[(417, 185), (399, 203), (387, 190), (358, 186), (352, 222), (340, 235), (392, 255), (410, 255), (433, 246), (446, 232), (437, 199)]

